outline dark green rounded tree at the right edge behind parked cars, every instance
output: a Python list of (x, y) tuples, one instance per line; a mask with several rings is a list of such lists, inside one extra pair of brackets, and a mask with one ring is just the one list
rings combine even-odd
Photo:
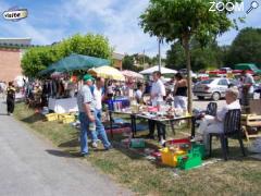
[(232, 42), (227, 63), (257, 63), (261, 65), (261, 28), (247, 27)]

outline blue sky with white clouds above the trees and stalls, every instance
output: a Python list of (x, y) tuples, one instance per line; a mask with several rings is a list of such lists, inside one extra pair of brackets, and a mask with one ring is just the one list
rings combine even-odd
[[(246, 26), (261, 27), (260, 7), (246, 16)], [(245, 12), (250, 0), (244, 0)], [(0, 37), (29, 37), (35, 45), (50, 45), (76, 33), (98, 33), (107, 36), (115, 51), (121, 53), (158, 52), (154, 37), (142, 33), (138, 17), (149, 0), (0, 0), (0, 12), (11, 7), (28, 9), (27, 19), (10, 22), (0, 19)], [(234, 16), (244, 16), (237, 12)], [(237, 30), (229, 30), (217, 38), (220, 45), (229, 45)], [(162, 47), (163, 56), (169, 45)]]

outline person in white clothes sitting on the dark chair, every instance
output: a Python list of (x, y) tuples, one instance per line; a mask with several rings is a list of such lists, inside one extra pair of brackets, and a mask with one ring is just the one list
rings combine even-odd
[(200, 123), (198, 133), (203, 134), (203, 143), (207, 151), (209, 151), (209, 133), (224, 132), (224, 119), (227, 111), (240, 109), (238, 95), (239, 91), (236, 86), (228, 88), (225, 94), (226, 106), (217, 111), (215, 117), (206, 115)]

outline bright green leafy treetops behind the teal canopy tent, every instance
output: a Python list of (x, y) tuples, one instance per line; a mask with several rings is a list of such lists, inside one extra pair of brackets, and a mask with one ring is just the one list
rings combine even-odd
[(39, 71), (71, 53), (111, 59), (112, 49), (101, 35), (76, 34), (52, 46), (28, 49), (22, 59), (23, 72), (26, 76), (36, 77)]

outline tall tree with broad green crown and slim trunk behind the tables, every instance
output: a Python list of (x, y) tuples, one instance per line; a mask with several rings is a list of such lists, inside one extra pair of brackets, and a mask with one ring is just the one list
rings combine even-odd
[[(235, 2), (239, 0), (234, 0)], [(223, 0), (226, 2), (226, 0)], [(185, 51), (188, 70), (188, 111), (192, 111), (190, 40), (194, 37), (201, 46), (235, 27), (227, 15), (232, 12), (210, 12), (208, 0), (150, 0), (149, 7), (140, 15), (145, 33), (166, 41), (178, 40)]]

